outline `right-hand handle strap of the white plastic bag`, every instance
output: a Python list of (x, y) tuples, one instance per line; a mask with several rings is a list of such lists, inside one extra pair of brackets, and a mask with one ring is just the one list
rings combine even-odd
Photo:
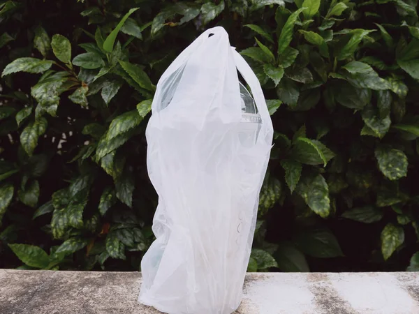
[[(235, 47), (231, 47), (233, 50), (233, 57), (235, 61), (235, 65), (237, 70), (240, 72), (244, 80), (249, 84), (251, 94), (256, 103), (256, 107), (258, 108), (258, 112), (260, 114), (260, 118), (262, 119), (262, 128), (260, 129), (261, 134), (266, 134), (267, 130), (272, 130), (272, 120), (270, 119), (269, 111), (267, 110), (267, 105), (265, 101), (265, 96), (263, 96), (262, 87), (260, 87), (260, 83), (258, 77), (256, 77), (253, 70), (251, 70), (249, 64), (247, 64), (246, 60), (235, 50)], [(264, 132), (262, 132), (264, 131)], [(260, 136), (258, 137), (259, 140)], [(265, 139), (272, 143), (272, 139)]]

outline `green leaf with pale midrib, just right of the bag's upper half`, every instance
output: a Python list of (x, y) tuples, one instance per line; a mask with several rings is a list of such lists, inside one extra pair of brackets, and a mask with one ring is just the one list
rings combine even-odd
[(298, 137), (293, 145), (293, 157), (300, 163), (307, 165), (320, 165), (325, 167), (328, 161), (335, 156), (328, 147), (318, 140), (309, 140), (306, 137)]

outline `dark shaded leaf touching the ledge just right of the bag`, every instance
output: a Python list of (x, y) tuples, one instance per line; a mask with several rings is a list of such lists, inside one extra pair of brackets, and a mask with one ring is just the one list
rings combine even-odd
[(309, 272), (304, 254), (291, 242), (281, 242), (274, 253), (278, 268), (286, 272)]

